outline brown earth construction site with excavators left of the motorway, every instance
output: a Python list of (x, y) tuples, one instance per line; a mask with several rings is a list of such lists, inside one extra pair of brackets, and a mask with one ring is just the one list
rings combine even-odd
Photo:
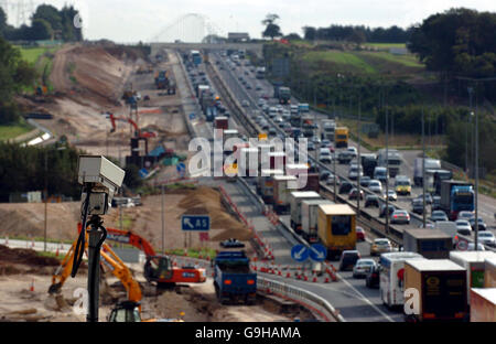
[[(170, 259), (171, 269), (186, 265), (192, 271), (203, 271), (206, 277), (192, 283), (174, 280), (162, 289), (145, 277), (142, 261), (125, 264), (118, 257), (110, 257), (107, 267), (101, 265), (100, 321), (108, 320), (116, 305), (131, 299), (133, 292), (139, 294), (134, 294), (132, 301), (140, 304), (142, 321), (314, 319), (311, 311), (296, 303), (260, 293), (251, 305), (219, 303), (212, 280), (211, 257), (196, 257), (203, 261), (185, 260), (188, 250), (215, 252), (220, 249), (220, 241), (229, 238), (242, 243), (249, 257), (257, 257), (257, 251), (252, 247), (252, 228), (229, 206), (225, 192), (197, 181), (169, 182), (177, 179), (176, 162), (165, 163), (163, 159), (175, 158), (187, 164), (191, 155), (187, 144), (192, 135), (183, 108), (191, 96), (171, 86), (176, 79), (173, 71), (177, 69), (177, 64), (175, 54), (152, 64), (147, 56), (137, 56), (112, 45), (65, 45), (53, 61), (51, 83), (54, 93), (44, 99), (19, 99), (29, 111), (51, 115), (40, 121), (53, 133), (45, 143), (64, 136), (71, 146), (87, 154), (111, 157), (122, 165), (134, 163), (148, 173), (153, 171), (150, 186), (157, 186), (158, 181), (165, 184), (163, 195), (157, 187), (152, 194), (140, 197), (139, 206), (112, 207), (104, 217), (104, 225), (118, 228), (116, 233), (137, 234), (157, 251), (170, 252), (171, 256), (165, 257)], [(160, 71), (168, 71), (166, 87), (160, 86)], [(173, 187), (169, 187), (171, 185)], [(78, 234), (80, 202), (51, 203), (46, 213), (45, 209), (43, 203), (0, 204), (0, 321), (85, 321), (85, 313), (75, 310), (79, 302), (77, 289), (86, 288), (86, 260), (75, 278), (67, 272), (74, 248), (71, 243)], [(181, 232), (184, 214), (209, 216), (211, 230), (206, 239)], [(48, 246), (56, 249), (42, 255), (34, 249), (34, 241), (43, 237), (46, 224)], [(17, 246), (12, 246), (14, 241)], [(25, 247), (18, 241), (25, 243)], [(131, 247), (110, 240), (107, 244), (110, 252), (112, 248)], [(182, 257), (175, 256), (183, 250)], [(48, 293), (57, 281), (56, 292)]]

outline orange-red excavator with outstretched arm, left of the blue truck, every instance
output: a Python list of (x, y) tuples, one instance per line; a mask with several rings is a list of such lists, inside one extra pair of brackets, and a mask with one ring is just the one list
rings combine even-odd
[[(80, 232), (80, 224), (77, 225)], [(143, 275), (148, 282), (159, 287), (171, 287), (176, 283), (203, 283), (206, 281), (205, 269), (195, 267), (173, 267), (168, 256), (158, 255), (150, 243), (141, 236), (115, 228), (107, 229), (107, 239), (131, 245), (142, 250), (147, 257)]]

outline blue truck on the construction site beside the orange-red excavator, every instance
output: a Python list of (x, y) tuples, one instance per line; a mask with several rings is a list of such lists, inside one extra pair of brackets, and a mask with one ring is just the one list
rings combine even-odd
[(222, 304), (244, 301), (252, 304), (257, 299), (257, 273), (250, 269), (245, 251), (220, 251), (212, 261), (214, 287)]

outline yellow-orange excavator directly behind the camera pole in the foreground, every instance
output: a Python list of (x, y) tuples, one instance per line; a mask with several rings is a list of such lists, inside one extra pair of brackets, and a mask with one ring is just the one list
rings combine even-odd
[[(87, 254), (87, 243), (85, 251)], [(52, 276), (52, 286), (48, 288), (48, 293), (54, 294), (60, 292), (62, 286), (66, 279), (71, 276), (71, 270), (73, 268), (74, 252), (76, 248), (77, 240), (73, 243), (71, 249), (65, 255), (57, 267), (55, 273)], [(115, 277), (117, 277), (127, 291), (127, 300), (119, 302), (110, 312), (108, 316), (109, 322), (140, 322), (141, 320), (141, 288), (138, 281), (132, 277), (131, 270), (125, 265), (125, 262), (112, 251), (110, 246), (104, 243), (100, 250), (101, 262), (100, 266), (109, 268)], [(153, 321), (181, 321), (181, 320), (157, 320), (149, 319), (143, 320), (147, 322)]]

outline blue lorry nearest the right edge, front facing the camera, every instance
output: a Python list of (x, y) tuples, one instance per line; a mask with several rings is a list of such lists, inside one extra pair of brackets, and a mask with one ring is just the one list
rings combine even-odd
[(471, 183), (464, 181), (443, 181), (441, 183), (440, 207), (451, 221), (462, 211), (474, 212), (475, 193)]

